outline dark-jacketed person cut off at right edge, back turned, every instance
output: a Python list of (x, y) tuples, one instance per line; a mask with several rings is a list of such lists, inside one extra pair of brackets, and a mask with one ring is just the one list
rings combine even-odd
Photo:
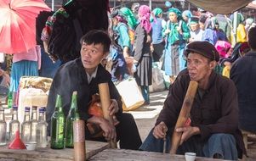
[(248, 31), (251, 51), (239, 58), (230, 70), (235, 82), (239, 105), (239, 126), (242, 130), (256, 132), (256, 27)]

